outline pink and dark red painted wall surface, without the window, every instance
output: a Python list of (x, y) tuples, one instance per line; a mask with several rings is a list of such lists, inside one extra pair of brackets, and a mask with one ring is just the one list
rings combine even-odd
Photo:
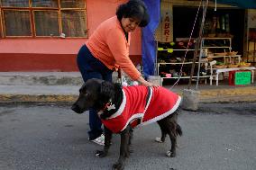
[[(87, 0), (87, 28), (89, 36), (96, 29), (97, 25), (104, 21), (105, 19), (112, 17), (115, 14), (116, 8), (119, 4), (126, 1), (119, 0)], [(9, 38), (0, 39), (0, 71), (30, 71), (36, 70), (37, 63), (45, 63), (45, 70), (60, 70), (60, 71), (70, 71), (65, 70), (65, 66), (59, 65), (76, 65), (74, 61), (75, 55), (78, 53), (78, 49), (85, 43), (87, 39), (76, 39), (76, 38)], [(15, 54), (15, 58), (12, 58), (12, 54)], [(34, 58), (17, 58), (17, 55), (21, 54), (33, 54)], [(23, 55), (22, 55), (23, 54)], [(49, 56), (47, 54), (50, 54)], [(137, 29), (133, 32), (130, 55), (135, 57), (135, 60), (140, 60), (142, 54), (142, 40), (141, 40), (141, 30)], [(43, 58), (41, 56), (44, 56)], [(56, 68), (48, 67), (51, 62), (52, 57), (56, 55), (61, 59), (61, 55), (65, 55), (65, 60), (67, 63), (56, 62)], [(67, 57), (70, 56), (70, 57)], [(31, 55), (30, 55), (31, 56)], [(40, 56), (36, 58), (36, 56)], [(7, 59), (7, 60), (6, 60)], [(17, 60), (18, 59), (18, 60)], [(25, 59), (25, 60), (24, 60)], [(55, 59), (56, 60), (56, 59)], [(25, 67), (23, 62), (31, 63), (33, 67)], [(14, 63), (15, 67), (10, 66), (10, 63)], [(54, 63), (53, 63), (54, 66)], [(61, 67), (61, 68), (59, 68)], [(28, 69), (28, 70), (27, 70)], [(76, 66), (74, 66), (74, 71), (76, 71)], [(72, 70), (71, 70), (72, 71)]]

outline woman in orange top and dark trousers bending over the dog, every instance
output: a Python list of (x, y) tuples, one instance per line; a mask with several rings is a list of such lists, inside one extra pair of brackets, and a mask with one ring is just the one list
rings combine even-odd
[[(112, 82), (112, 73), (121, 68), (142, 85), (154, 86), (146, 81), (129, 58), (130, 32), (149, 22), (149, 14), (141, 0), (121, 4), (112, 18), (102, 22), (78, 52), (78, 68), (84, 81), (99, 78)], [(89, 140), (104, 145), (102, 123), (96, 111), (89, 111)]]

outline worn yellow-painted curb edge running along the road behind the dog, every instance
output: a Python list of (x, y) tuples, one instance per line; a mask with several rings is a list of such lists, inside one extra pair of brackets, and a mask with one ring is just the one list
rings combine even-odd
[[(256, 102), (256, 86), (199, 91), (199, 103)], [(182, 91), (178, 94), (182, 96)], [(76, 94), (0, 94), (0, 103), (73, 103)]]

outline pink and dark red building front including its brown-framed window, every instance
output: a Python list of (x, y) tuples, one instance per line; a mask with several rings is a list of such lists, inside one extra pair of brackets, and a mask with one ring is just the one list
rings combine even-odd
[[(97, 25), (123, 0), (0, 1), (0, 71), (78, 71), (76, 56)], [(140, 62), (141, 30), (130, 55)]]

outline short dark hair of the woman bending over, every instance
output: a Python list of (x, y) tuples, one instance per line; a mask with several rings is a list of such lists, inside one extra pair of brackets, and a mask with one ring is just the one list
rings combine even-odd
[(126, 4), (121, 4), (115, 14), (119, 21), (122, 18), (136, 18), (140, 20), (139, 27), (145, 27), (150, 22), (146, 4), (141, 0), (130, 0)]

